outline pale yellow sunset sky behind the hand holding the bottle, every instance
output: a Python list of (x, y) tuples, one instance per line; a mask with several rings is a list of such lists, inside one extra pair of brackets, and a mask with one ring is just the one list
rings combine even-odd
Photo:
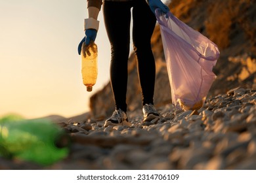
[(110, 43), (98, 16), (98, 78), (87, 92), (77, 45), (85, 0), (0, 0), (0, 116), (24, 118), (89, 111), (89, 97), (109, 82)]

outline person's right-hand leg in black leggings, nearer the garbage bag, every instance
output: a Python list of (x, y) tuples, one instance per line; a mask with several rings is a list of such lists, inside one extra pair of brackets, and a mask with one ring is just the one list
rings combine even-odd
[(142, 104), (154, 104), (156, 65), (151, 48), (151, 37), (156, 26), (156, 16), (146, 4), (137, 0), (133, 7), (133, 48), (142, 91)]

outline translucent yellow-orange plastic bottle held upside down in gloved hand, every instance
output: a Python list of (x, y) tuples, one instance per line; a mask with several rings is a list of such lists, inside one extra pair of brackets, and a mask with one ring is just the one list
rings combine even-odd
[(81, 60), (83, 84), (87, 87), (87, 92), (91, 92), (98, 76), (98, 48), (95, 42), (90, 42), (87, 46), (83, 42)]

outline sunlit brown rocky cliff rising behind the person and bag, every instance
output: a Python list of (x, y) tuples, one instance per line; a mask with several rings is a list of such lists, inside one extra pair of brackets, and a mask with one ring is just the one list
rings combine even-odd
[[(209, 96), (235, 87), (255, 88), (256, 78), (256, 1), (255, 0), (173, 0), (171, 12), (182, 22), (215, 42), (221, 51), (213, 69), (217, 79)], [(160, 27), (152, 36), (156, 59), (154, 103), (157, 107), (171, 103), (171, 90), (165, 65)], [(136, 59), (129, 58), (127, 105), (129, 111), (142, 108)], [(91, 114), (106, 118), (114, 111), (110, 82), (90, 99)]]

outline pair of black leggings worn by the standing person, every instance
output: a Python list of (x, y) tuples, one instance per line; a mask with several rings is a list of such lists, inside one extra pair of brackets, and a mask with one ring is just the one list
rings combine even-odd
[(151, 49), (151, 37), (156, 16), (145, 0), (127, 2), (104, 1), (104, 24), (111, 45), (110, 83), (116, 109), (127, 110), (126, 92), (130, 44), (131, 8), (133, 7), (133, 50), (137, 59), (142, 104), (152, 103), (156, 65)]

